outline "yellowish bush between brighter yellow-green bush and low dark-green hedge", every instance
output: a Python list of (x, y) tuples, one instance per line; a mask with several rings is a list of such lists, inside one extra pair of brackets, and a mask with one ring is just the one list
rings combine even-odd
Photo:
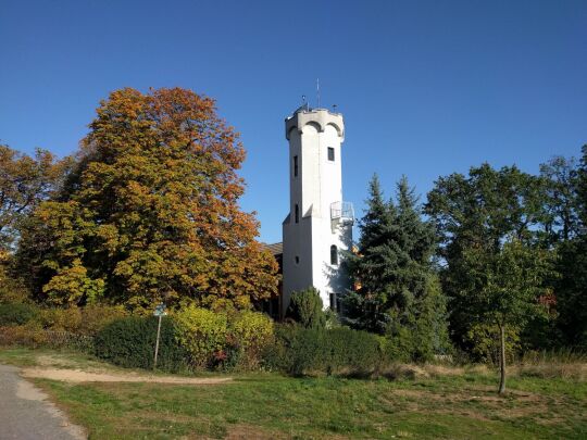
[(251, 311), (230, 315), (225, 368), (254, 369), (273, 338), (273, 320), (267, 315)]

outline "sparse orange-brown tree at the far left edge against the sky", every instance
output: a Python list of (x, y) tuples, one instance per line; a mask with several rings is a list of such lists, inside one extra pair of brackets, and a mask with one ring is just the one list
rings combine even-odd
[(0, 251), (12, 249), (18, 224), (55, 190), (67, 163), (46, 150), (32, 158), (0, 144)]

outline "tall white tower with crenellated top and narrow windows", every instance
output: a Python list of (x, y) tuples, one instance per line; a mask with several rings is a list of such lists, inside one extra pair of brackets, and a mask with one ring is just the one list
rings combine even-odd
[(342, 115), (299, 108), (286, 118), (289, 215), (284, 221), (283, 306), (294, 291), (315, 287), (325, 307), (339, 309), (349, 288), (341, 251), (352, 246), (352, 204), (342, 201)]

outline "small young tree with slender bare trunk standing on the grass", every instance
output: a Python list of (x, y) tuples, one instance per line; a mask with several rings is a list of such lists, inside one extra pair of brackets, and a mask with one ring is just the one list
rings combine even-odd
[(533, 316), (545, 313), (545, 302), (552, 294), (545, 287), (545, 280), (552, 277), (553, 254), (513, 238), (498, 252), (471, 247), (463, 256), (470, 271), (467, 309), (471, 320), (499, 328), (499, 393), (503, 393), (507, 329), (523, 327)]

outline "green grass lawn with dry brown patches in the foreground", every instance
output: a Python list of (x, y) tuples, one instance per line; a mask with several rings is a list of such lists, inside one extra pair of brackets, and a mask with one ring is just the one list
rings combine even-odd
[[(4, 350), (0, 362), (35, 355)], [(501, 398), (494, 372), (457, 373), (430, 368), (428, 377), (398, 380), (250, 374), (197, 387), (36, 382), (91, 439), (587, 438), (585, 381), (519, 375)]]

